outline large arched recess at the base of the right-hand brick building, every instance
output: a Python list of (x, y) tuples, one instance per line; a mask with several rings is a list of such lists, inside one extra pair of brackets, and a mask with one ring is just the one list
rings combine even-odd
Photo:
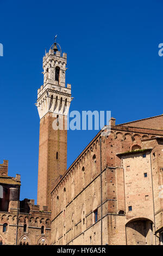
[(147, 218), (132, 219), (126, 224), (127, 245), (153, 245), (153, 222)]

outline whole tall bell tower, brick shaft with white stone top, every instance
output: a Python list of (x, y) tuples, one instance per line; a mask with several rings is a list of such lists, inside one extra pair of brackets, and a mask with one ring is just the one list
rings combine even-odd
[[(67, 114), (71, 85), (65, 86), (67, 54), (54, 43), (43, 57), (43, 85), (37, 91), (40, 116), (37, 205), (51, 210), (51, 183), (67, 170)], [(60, 47), (60, 46), (59, 46)]]

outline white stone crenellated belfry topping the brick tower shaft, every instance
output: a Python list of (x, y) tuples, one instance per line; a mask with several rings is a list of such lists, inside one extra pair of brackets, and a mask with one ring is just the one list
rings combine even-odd
[[(55, 43), (55, 45), (57, 45)], [(37, 90), (37, 110), (40, 119), (52, 112), (67, 116), (70, 108), (71, 85), (65, 86), (67, 54), (49, 49), (43, 56), (43, 85)]]

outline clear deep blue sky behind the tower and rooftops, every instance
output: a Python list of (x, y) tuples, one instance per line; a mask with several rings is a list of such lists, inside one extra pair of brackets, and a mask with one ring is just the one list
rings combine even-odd
[[(42, 57), (58, 34), (67, 52), (71, 110), (111, 110), (116, 123), (160, 115), (163, 3), (4, 1), (0, 3), (0, 163), (21, 174), (21, 199), (36, 199)], [(97, 131), (68, 131), (67, 166)]]

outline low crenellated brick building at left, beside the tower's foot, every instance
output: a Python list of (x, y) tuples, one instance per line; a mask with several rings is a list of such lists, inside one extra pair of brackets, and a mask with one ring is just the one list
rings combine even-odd
[(15, 178), (8, 176), (7, 160), (1, 166), (0, 244), (49, 245), (51, 212), (48, 212), (47, 206), (40, 211), (40, 206), (35, 205), (32, 199), (19, 201), (20, 175), (17, 174)]

